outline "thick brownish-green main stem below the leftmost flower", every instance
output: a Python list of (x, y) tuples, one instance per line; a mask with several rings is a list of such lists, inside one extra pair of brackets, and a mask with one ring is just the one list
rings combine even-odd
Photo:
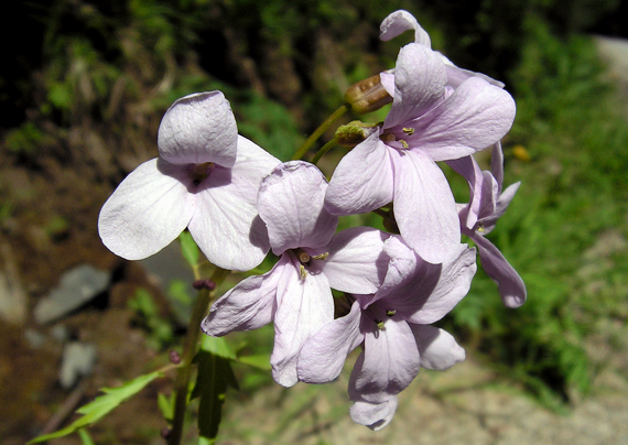
[[(197, 275), (197, 270), (194, 270), (194, 274)], [(216, 283), (216, 286), (225, 280), (229, 271), (220, 268), (216, 268), (212, 274), (210, 280)], [(195, 276), (198, 279), (198, 276)], [(190, 378), (192, 376), (192, 359), (196, 355), (196, 346), (198, 344), (198, 337), (201, 335), (201, 322), (207, 313), (209, 303), (214, 297), (216, 291), (209, 292), (208, 289), (202, 289), (198, 291), (196, 297), (196, 303), (192, 310), (192, 316), (190, 317), (190, 324), (187, 326), (187, 335), (185, 336), (185, 341), (183, 344), (183, 355), (181, 356), (181, 365), (176, 371), (176, 378), (174, 380), (174, 415), (172, 419), (172, 430), (167, 436), (169, 445), (180, 445), (181, 437), (183, 435), (183, 422), (185, 420), (185, 409), (187, 408), (187, 389), (190, 387)]]

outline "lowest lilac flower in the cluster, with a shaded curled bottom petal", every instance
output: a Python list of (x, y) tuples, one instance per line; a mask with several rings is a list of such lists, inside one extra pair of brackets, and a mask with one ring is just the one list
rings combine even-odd
[(373, 430), (386, 426), (397, 394), (419, 368), (444, 370), (465, 352), (443, 329), (430, 326), (468, 292), (476, 271), (475, 249), (458, 245), (442, 264), (423, 261), (399, 237), (385, 242), (390, 257), (373, 295), (354, 295), (348, 315), (325, 325), (303, 346), (299, 378), (325, 383), (338, 377), (351, 350), (362, 345), (349, 379), (351, 419)]

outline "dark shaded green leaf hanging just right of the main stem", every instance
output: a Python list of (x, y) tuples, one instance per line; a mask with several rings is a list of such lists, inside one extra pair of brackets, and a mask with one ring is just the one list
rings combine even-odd
[(198, 362), (198, 375), (191, 399), (201, 398), (198, 435), (208, 441), (206, 444), (213, 444), (218, 435), (227, 388), (238, 389), (238, 382), (230, 361), (224, 357), (201, 350), (195, 361)]

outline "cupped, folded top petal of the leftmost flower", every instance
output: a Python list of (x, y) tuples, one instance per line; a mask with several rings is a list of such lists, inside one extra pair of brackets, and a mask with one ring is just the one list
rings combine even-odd
[(158, 132), (160, 156), (172, 164), (236, 162), (238, 128), (229, 101), (220, 91), (197, 93), (176, 100)]

